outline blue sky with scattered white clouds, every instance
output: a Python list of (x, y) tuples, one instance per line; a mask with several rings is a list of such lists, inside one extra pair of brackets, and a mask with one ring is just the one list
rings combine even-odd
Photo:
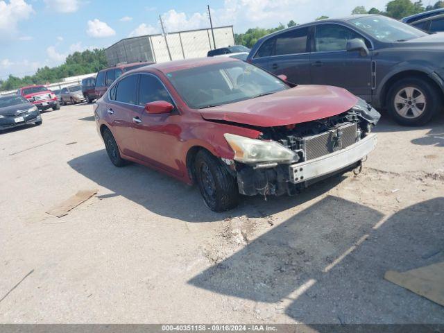
[(107, 47), (121, 38), (214, 26), (271, 28), (327, 15), (350, 15), (356, 6), (384, 10), (388, 0), (0, 0), (0, 78), (32, 75), (57, 66), (74, 51)]

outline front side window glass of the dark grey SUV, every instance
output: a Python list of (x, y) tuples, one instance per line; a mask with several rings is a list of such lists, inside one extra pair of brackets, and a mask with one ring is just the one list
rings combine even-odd
[(316, 52), (346, 51), (347, 42), (358, 38), (366, 43), (370, 49), (371, 44), (355, 31), (337, 24), (321, 24), (316, 26), (315, 47)]

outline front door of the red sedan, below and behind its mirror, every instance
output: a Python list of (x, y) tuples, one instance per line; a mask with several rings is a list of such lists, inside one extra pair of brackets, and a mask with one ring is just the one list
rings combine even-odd
[(182, 176), (177, 160), (180, 151), (180, 114), (175, 108), (169, 114), (150, 114), (144, 110), (146, 103), (173, 99), (160, 78), (154, 74), (140, 74), (139, 108), (133, 113), (138, 123), (134, 125), (139, 157), (170, 173)]

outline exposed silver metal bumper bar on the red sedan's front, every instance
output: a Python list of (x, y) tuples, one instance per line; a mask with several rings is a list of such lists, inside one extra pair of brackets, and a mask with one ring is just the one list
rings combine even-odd
[(314, 160), (293, 164), (289, 167), (293, 184), (325, 176), (362, 160), (376, 148), (377, 135), (371, 134), (341, 151), (318, 157)]

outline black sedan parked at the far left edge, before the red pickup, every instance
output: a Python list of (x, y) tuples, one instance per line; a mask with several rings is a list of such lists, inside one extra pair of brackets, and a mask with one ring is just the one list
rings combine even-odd
[(42, 124), (42, 117), (37, 106), (23, 96), (0, 96), (0, 130), (28, 123)]

